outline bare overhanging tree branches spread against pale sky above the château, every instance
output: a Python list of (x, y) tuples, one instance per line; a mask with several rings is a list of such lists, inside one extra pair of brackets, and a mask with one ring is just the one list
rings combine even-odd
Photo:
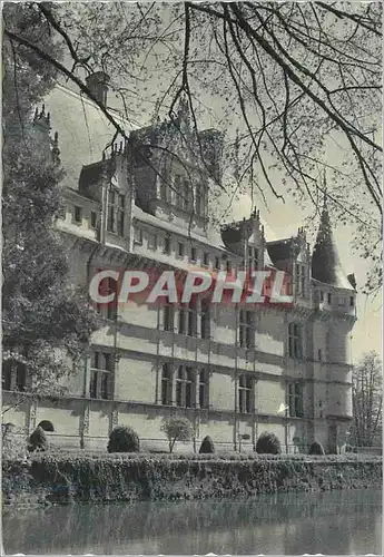
[[(227, 130), (220, 187), (267, 203), (294, 196), (315, 216), (326, 189), (339, 223), (381, 270), (380, 2), (36, 4), (67, 49), (66, 63), (12, 31), (4, 36), (60, 70), (99, 105), (117, 134), (128, 130), (93, 98), (87, 74), (105, 69), (129, 123), (176, 121), (188, 102), (200, 123)], [(178, 130), (183, 134), (183, 130)], [(331, 145), (339, 156), (329, 160)], [(168, 145), (158, 145), (168, 149)], [(327, 184), (319, 180), (327, 170)]]

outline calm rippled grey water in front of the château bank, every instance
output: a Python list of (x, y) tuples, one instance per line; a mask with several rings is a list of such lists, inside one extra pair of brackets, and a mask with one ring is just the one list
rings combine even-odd
[(374, 489), (4, 511), (7, 554), (382, 554)]

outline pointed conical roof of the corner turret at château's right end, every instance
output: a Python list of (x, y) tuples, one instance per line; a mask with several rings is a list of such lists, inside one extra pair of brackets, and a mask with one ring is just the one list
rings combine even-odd
[(312, 256), (312, 276), (316, 281), (329, 284), (331, 286), (354, 290), (339, 262), (326, 202), (324, 202), (316, 244)]

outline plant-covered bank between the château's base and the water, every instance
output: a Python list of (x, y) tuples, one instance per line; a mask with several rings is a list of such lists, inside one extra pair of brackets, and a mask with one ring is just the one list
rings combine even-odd
[(2, 463), (4, 505), (224, 499), (381, 487), (382, 459), (355, 455), (47, 453)]

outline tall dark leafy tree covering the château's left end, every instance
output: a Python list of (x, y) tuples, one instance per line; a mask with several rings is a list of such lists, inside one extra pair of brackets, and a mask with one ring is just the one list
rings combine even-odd
[[(37, 4), (8, 3), (2, 13), (8, 29), (61, 56)], [(61, 394), (58, 380), (72, 372), (72, 360), (82, 355), (98, 326), (85, 293), (69, 284), (67, 248), (52, 226), (61, 209), (63, 176), (58, 141), (45, 110), (32, 114), (56, 78), (52, 65), (4, 40), (3, 361), (28, 370), (14, 404), (26, 395)]]

